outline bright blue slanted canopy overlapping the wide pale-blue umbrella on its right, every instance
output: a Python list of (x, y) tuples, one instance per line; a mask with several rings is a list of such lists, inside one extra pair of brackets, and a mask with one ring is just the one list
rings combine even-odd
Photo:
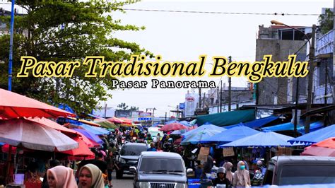
[(239, 125), (237, 127), (233, 127), (231, 129), (228, 129), (226, 131), (222, 131), (214, 136), (208, 137), (207, 139), (204, 139), (200, 141), (201, 143), (228, 143), (231, 141), (236, 141), (238, 139), (245, 138), (247, 136), (251, 136), (254, 134), (258, 134), (259, 131), (256, 131), (252, 128), (245, 127), (243, 125)]

